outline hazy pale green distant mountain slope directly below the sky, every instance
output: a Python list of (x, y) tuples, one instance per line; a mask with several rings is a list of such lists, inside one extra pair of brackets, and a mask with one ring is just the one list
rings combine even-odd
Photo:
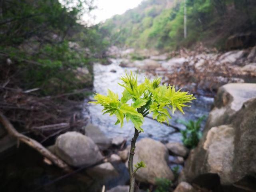
[(159, 20), (179, 2), (181, 0), (145, 0), (137, 8), (107, 20), (103, 28), (110, 31), (114, 44), (148, 47), (149, 38), (162, 28)]

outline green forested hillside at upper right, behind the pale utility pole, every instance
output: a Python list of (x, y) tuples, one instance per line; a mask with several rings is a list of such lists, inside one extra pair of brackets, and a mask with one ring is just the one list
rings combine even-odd
[(137, 8), (107, 20), (102, 28), (110, 42), (137, 48), (174, 49), (205, 45), (225, 48), (231, 35), (254, 32), (254, 0), (187, 0), (187, 38), (183, 0), (145, 0)]

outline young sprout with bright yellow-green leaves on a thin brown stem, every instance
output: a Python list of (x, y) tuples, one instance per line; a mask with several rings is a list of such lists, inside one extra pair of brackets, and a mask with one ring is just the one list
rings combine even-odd
[[(107, 96), (96, 93), (94, 99), (96, 101), (89, 102), (100, 104), (104, 107), (103, 111), (109, 113), (109, 115), (115, 115), (117, 121), (115, 125), (124, 123), (124, 118), (127, 122), (131, 120), (134, 124), (135, 132), (133, 139), (131, 140), (131, 149), (128, 160), (128, 169), (130, 175), (130, 189), (129, 192), (134, 192), (135, 188), (135, 172), (139, 168), (146, 167), (144, 162), (138, 162), (133, 170), (133, 156), (135, 153), (135, 143), (139, 136), (139, 133), (144, 132), (141, 128), (144, 117), (150, 113), (153, 113), (153, 119), (156, 119), (159, 123), (166, 121), (169, 123), (171, 115), (168, 108), (172, 110), (172, 113), (179, 109), (183, 114), (183, 107), (189, 107), (185, 103), (191, 103), (191, 100), (196, 99), (188, 92), (182, 92), (180, 89), (175, 90), (175, 86), (160, 85), (161, 78), (155, 78), (150, 81), (145, 77), (145, 81), (138, 85), (137, 75), (133, 73), (125, 74), (121, 77), (122, 83), (118, 83), (124, 87), (125, 90), (122, 93), (121, 99), (118, 95), (108, 89)], [(132, 100), (131, 105), (127, 104), (129, 100)]]

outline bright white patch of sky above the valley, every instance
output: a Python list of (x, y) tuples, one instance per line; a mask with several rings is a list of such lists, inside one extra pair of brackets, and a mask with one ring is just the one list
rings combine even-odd
[(114, 15), (123, 14), (125, 11), (137, 7), (143, 0), (94, 0), (97, 9), (91, 11), (91, 16), (83, 16), (83, 20), (91, 24), (98, 24)]

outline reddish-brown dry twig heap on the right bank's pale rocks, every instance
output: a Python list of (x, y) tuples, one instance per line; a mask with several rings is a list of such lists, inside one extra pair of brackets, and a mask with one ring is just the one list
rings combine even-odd
[(165, 74), (166, 83), (185, 87), (187, 90), (204, 95), (213, 96), (218, 87), (226, 83), (246, 82), (255, 79), (256, 71), (241, 71), (236, 63), (220, 63), (221, 53), (215, 49), (207, 49), (199, 44), (194, 51), (181, 49), (173, 53), (176, 57), (185, 57), (187, 62), (172, 68), (171, 73)]

